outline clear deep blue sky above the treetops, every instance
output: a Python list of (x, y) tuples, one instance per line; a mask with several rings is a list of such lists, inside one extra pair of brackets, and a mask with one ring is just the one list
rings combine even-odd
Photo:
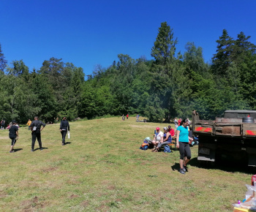
[(119, 53), (151, 59), (166, 21), (178, 38), (176, 53), (194, 42), (207, 62), (223, 29), (234, 39), (243, 31), (256, 45), (255, 8), (255, 0), (1, 0), (0, 43), (9, 64), (23, 59), (31, 71), (55, 57), (89, 75), (97, 64), (118, 61)]

